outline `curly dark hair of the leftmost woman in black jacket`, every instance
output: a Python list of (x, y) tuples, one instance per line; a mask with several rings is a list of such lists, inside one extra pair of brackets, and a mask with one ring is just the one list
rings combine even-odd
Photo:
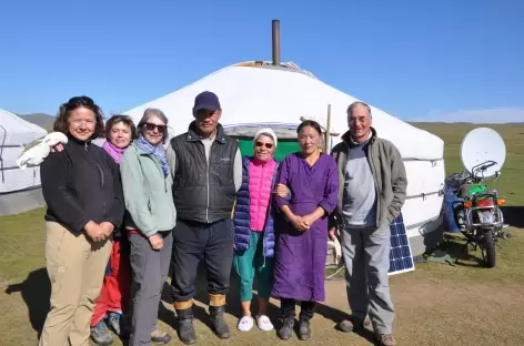
[(62, 132), (63, 134), (69, 133), (69, 116), (71, 116), (71, 112), (78, 108), (85, 108), (91, 110), (94, 113), (95, 125), (94, 132), (91, 135), (90, 140), (94, 140), (104, 135), (104, 125), (103, 125), (103, 113), (100, 106), (94, 103), (94, 101), (89, 96), (74, 96), (69, 99), (68, 102), (62, 103), (58, 111), (57, 119), (54, 120), (53, 131)]

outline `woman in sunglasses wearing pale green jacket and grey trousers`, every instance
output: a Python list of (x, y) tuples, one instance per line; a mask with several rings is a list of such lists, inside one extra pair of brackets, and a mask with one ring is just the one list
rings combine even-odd
[(169, 272), (172, 230), (177, 220), (165, 150), (168, 119), (147, 109), (138, 124), (138, 139), (120, 162), (131, 245), (130, 346), (168, 344), (171, 335), (157, 329), (162, 286)]

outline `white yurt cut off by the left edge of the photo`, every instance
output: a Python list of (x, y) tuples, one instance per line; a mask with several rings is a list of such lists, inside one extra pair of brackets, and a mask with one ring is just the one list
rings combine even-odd
[(0, 110), (0, 215), (22, 213), (43, 206), (40, 167), (17, 165), (23, 145), (47, 131), (20, 116)]

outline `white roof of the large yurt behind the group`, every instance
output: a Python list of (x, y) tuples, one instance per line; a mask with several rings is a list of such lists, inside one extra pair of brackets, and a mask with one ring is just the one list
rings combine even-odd
[[(294, 129), (301, 119), (313, 119), (325, 126), (328, 105), (331, 104), (331, 132), (340, 133), (333, 138), (333, 143), (339, 142), (347, 130), (347, 105), (359, 101), (292, 62), (272, 65), (265, 61), (246, 61), (225, 67), (125, 114), (138, 122), (147, 108), (158, 108), (168, 116), (171, 132), (180, 134), (193, 120), (194, 98), (206, 90), (219, 96), (220, 122), (229, 131), (253, 124)], [(403, 157), (442, 159), (444, 143), (440, 138), (371, 108), (379, 136), (393, 142)]]

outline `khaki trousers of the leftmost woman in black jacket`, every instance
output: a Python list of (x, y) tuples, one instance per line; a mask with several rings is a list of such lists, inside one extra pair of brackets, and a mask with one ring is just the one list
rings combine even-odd
[(46, 222), (46, 266), (51, 309), (40, 346), (87, 346), (94, 303), (100, 294), (111, 241), (93, 243), (58, 223)]

